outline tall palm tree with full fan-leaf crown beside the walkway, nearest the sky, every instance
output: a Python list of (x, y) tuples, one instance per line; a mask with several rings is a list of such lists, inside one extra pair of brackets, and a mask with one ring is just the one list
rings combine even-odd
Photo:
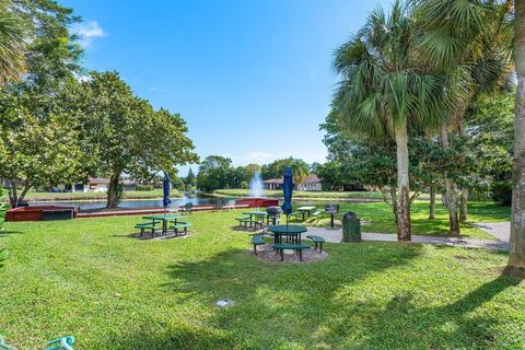
[(397, 149), (397, 235), (411, 240), (408, 133), (412, 126), (436, 128), (450, 115), (446, 81), (418, 58), (411, 8), (377, 8), (358, 34), (336, 51), (342, 77), (334, 100), (342, 127), (365, 138), (388, 138)]

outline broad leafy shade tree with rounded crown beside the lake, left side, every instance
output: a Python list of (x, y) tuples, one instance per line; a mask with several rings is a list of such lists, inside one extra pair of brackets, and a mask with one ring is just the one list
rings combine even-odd
[[(96, 173), (109, 176), (107, 208), (118, 206), (122, 174), (145, 178), (198, 160), (186, 136), (185, 120), (166, 109), (154, 110), (116, 72), (92, 72), (72, 94), (81, 132), (96, 159)], [(72, 112), (73, 113), (73, 112)]]

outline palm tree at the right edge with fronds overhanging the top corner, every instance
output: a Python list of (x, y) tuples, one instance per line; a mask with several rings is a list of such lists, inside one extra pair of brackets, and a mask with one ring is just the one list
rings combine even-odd
[[(516, 73), (514, 176), (511, 238), (506, 272), (525, 276), (525, 1), (524, 0), (417, 0), (428, 24), (424, 55), (443, 67), (454, 67), (479, 38), (493, 37), (499, 22), (501, 37), (512, 40)], [(511, 21), (513, 20), (513, 21)], [(489, 34), (488, 34), (489, 33)], [(432, 39), (434, 37), (434, 39)]]

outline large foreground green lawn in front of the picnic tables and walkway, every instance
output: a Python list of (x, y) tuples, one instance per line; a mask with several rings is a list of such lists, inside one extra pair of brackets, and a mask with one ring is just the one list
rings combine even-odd
[(19, 349), (67, 334), (75, 349), (525, 347), (505, 253), (326, 244), (322, 262), (267, 262), (233, 229), (241, 212), (196, 212), (164, 241), (131, 238), (138, 217), (5, 223), (0, 334)]

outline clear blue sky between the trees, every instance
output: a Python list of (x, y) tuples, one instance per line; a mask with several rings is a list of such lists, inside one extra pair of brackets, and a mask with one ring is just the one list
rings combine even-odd
[(180, 113), (202, 159), (244, 165), (324, 162), (318, 126), (337, 83), (332, 52), (389, 1), (61, 3), (84, 19), (77, 30), (88, 69), (116, 70), (153, 106)]

